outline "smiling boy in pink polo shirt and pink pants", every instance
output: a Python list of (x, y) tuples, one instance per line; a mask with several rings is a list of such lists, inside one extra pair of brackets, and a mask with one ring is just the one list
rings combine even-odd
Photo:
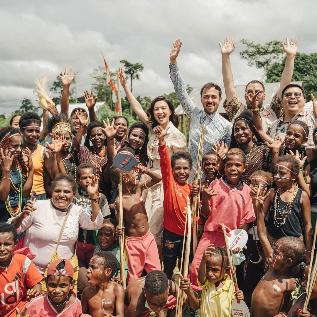
[(208, 183), (202, 186), (201, 213), (208, 218), (189, 274), (195, 290), (201, 290), (197, 284), (197, 273), (204, 250), (210, 244), (225, 247), (222, 224), (227, 232), (238, 228), (248, 231), (248, 223), (256, 220), (250, 187), (240, 179), (245, 163), (245, 154), (241, 149), (229, 150), (224, 159), (226, 175), (212, 181), (209, 187)]

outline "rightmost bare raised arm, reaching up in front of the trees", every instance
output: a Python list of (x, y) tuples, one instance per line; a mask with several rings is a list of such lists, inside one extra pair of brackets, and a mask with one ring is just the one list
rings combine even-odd
[[(283, 50), (287, 54), (285, 66), (283, 69), (283, 73), (281, 75), (280, 87), (278, 88), (276, 95), (282, 99), (282, 91), (283, 89), (291, 83), (294, 71), (294, 60), (295, 55), (297, 53), (299, 43), (297, 43), (297, 39), (294, 41), (294, 36), (291, 38), (291, 42), (289, 42), (288, 37), (286, 38), (286, 45), (282, 43)], [(280, 117), (280, 113), (276, 113), (277, 117)]]

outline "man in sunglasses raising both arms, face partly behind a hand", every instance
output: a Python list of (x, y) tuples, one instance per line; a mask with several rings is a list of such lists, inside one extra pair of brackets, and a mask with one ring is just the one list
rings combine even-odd
[(247, 95), (252, 94), (253, 87), (255, 86), (255, 92), (262, 91), (257, 95), (259, 114), (262, 120), (263, 131), (267, 132), (268, 126), (272, 124), (276, 119), (280, 118), (284, 113), (283, 108), (281, 107), (281, 93), (283, 88), (288, 85), (293, 76), (294, 70), (294, 58), (297, 53), (297, 48), (299, 43), (297, 39), (292, 37), (289, 42), (288, 38), (286, 39), (286, 45), (282, 43), (283, 50), (287, 54), (285, 67), (281, 76), (280, 87), (278, 88), (276, 94), (273, 96), (271, 103), (263, 105), (265, 100), (265, 88), (262, 82), (253, 80), (250, 81), (245, 87), (244, 99), (246, 105), (240, 101), (239, 96), (236, 93), (236, 89), (233, 85), (233, 74), (230, 66), (230, 53), (236, 47), (236, 44), (233, 43), (233, 38), (229, 41), (229, 38), (223, 40), (223, 45), (219, 43), (222, 54), (222, 75), (223, 75), (223, 84), (226, 92), (226, 100), (223, 103), (223, 108), (225, 109), (229, 120), (233, 122), (236, 118), (239, 117), (240, 113), (246, 108), (252, 109), (252, 106), (249, 103)]

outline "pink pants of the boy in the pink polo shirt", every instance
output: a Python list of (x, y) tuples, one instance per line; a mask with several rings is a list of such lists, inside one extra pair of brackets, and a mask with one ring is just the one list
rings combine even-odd
[(196, 252), (194, 254), (194, 259), (191, 262), (191, 270), (188, 275), (188, 278), (192, 283), (191, 287), (197, 292), (201, 291), (201, 287), (199, 287), (197, 283), (198, 268), (205, 249), (212, 243), (214, 244), (214, 247), (225, 248), (223, 233), (217, 231), (204, 231), (204, 234), (198, 243)]

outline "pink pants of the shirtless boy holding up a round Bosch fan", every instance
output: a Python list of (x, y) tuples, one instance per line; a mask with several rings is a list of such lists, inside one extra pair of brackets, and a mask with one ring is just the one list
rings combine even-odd
[(126, 263), (129, 268), (128, 283), (142, 276), (143, 269), (147, 273), (162, 270), (159, 252), (154, 236), (148, 233), (139, 238), (126, 236)]

